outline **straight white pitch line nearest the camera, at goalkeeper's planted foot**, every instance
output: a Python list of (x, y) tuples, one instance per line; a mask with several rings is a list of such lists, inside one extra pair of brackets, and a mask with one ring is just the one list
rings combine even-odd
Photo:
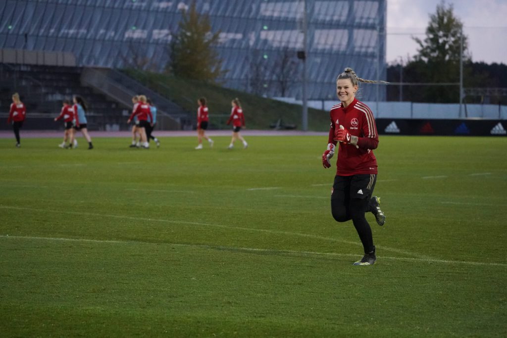
[[(276, 249), (259, 249), (259, 248), (243, 248), (243, 247), (227, 247), (219, 245), (203, 245), (203, 244), (179, 244), (179, 243), (154, 243), (144, 241), (119, 241), (119, 240), (97, 240), (97, 239), (86, 239), (86, 238), (61, 238), (61, 237), (34, 237), (34, 236), (9, 236), (0, 235), (3, 239), (24, 239), (24, 240), (40, 240), (40, 241), (65, 241), (65, 242), (84, 242), (84, 243), (114, 243), (114, 244), (156, 244), (156, 245), (168, 245), (168, 246), (181, 246), (190, 248), (201, 248), (201, 249), (219, 249), (219, 250), (235, 250), (235, 251), (250, 251), (250, 252), (266, 252), (266, 253), (278, 253), (278, 254), (299, 254), (299, 255), (312, 255), (312, 256), (336, 256), (336, 257), (357, 257), (357, 253), (335, 253), (335, 252), (318, 252), (318, 251), (296, 251), (296, 250), (276, 250)], [(465, 264), (465, 265), (476, 265), (476, 266), (499, 266), (507, 267), (507, 264), (503, 263), (491, 263), (491, 262), (477, 262), (477, 261), (460, 261), (460, 260), (447, 260), (447, 259), (433, 259), (433, 258), (413, 258), (413, 257), (391, 257), (391, 256), (379, 256), (382, 259), (394, 259), (394, 260), (408, 260), (408, 261), (421, 261), (421, 262), (434, 262), (443, 264)]]

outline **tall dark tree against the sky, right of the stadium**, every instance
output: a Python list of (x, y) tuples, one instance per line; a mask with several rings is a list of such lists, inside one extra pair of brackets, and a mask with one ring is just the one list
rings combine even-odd
[[(452, 5), (445, 2), (437, 5), (430, 15), (424, 40), (413, 37), (419, 45), (418, 55), (407, 64), (406, 69), (415, 70), (416, 82), (450, 83), (459, 82), (459, 60), (461, 43), (463, 55), (467, 55), (467, 38), (462, 35), (463, 23), (454, 15)], [(466, 56), (463, 62), (468, 62)], [(409, 79), (407, 78), (407, 81)], [(423, 101), (456, 102), (459, 100), (458, 86), (428, 86), (422, 94)]]

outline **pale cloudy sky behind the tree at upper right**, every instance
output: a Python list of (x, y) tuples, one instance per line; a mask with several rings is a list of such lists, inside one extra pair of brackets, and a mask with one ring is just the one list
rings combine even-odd
[[(405, 33), (424, 39), (429, 15), (441, 1), (387, 0), (388, 63), (405, 63), (417, 54), (418, 45)], [(454, 15), (463, 23), (474, 62), (507, 64), (507, 0), (446, 0), (446, 4), (454, 5)]]

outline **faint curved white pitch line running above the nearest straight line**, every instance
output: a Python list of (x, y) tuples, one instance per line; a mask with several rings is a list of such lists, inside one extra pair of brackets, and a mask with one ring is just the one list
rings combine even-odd
[[(152, 221), (152, 222), (164, 222), (164, 223), (171, 223), (171, 224), (189, 224), (191, 226), (202, 226), (202, 227), (215, 227), (215, 228), (223, 228), (223, 229), (233, 229), (233, 230), (241, 230), (241, 231), (251, 231), (251, 232), (261, 232), (261, 233), (268, 233), (268, 234), (277, 234), (277, 235), (286, 235), (286, 236), (298, 236), (298, 237), (305, 237), (305, 238), (311, 238), (321, 241), (330, 241), (330, 242), (336, 242), (336, 243), (345, 243), (355, 246), (363, 246), (358, 241), (347, 241), (332, 237), (324, 237), (324, 236), (317, 236), (317, 235), (311, 235), (311, 234), (301, 234), (301, 233), (293, 233), (288, 231), (280, 231), (280, 230), (268, 230), (268, 229), (255, 229), (255, 228), (243, 228), (243, 227), (233, 227), (233, 226), (227, 226), (225, 224), (212, 224), (212, 223), (203, 223), (203, 222), (190, 222), (185, 220), (172, 220), (172, 219), (159, 219), (159, 218), (146, 218), (146, 217), (131, 217), (131, 216), (123, 216), (123, 215), (111, 215), (111, 214), (98, 214), (98, 213), (91, 213), (91, 212), (79, 212), (79, 211), (62, 211), (62, 210), (49, 210), (49, 209), (34, 209), (34, 208), (24, 208), (24, 207), (14, 207), (14, 206), (0, 206), (0, 209), (14, 209), (14, 210), (29, 210), (29, 211), (37, 211), (37, 212), (55, 212), (58, 214), (69, 214), (69, 215), (83, 215), (83, 216), (92, 216), (92, 217), (111, 217), (111, 218), (118, 218), (118, 219), (129, 219), (129, 220), (141, 220), (141, 221)], [(421, 259), (436, 259), (432, 258), (426, 255), (421, 255), (417, 252), (412, 251), (405, 251), (385, 246), (378, 246), (379, 248), (382, 248), (385, 251), (391, 251), (396, 253), (401, 253), (408, 256), (414, 256)]]

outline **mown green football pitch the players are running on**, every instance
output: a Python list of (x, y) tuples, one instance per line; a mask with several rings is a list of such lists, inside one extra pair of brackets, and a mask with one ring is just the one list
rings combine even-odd
[(326, 137), (247, 140), (0, 139), (0, 335), (507, 335), (507, 139), (381, 136), (372, 267)]

